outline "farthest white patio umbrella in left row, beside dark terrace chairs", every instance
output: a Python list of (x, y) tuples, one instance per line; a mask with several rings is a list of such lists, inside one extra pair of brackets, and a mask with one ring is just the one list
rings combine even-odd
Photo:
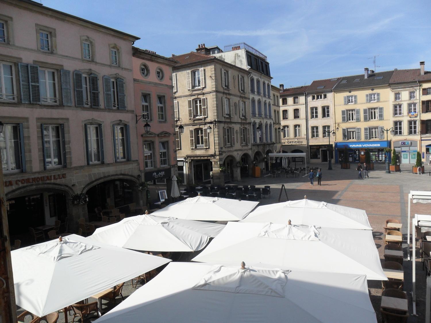
[(259, 202), (196, 196), (169, 204), (152, 214), (187, 220), (238, 221), (244, 219), (258, 204)]

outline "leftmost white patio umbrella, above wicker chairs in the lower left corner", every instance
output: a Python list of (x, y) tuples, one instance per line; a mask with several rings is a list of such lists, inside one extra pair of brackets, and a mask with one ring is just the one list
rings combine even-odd
[(11, 252), (16, 304), (42, 317), (170, 259), (71, 234)]

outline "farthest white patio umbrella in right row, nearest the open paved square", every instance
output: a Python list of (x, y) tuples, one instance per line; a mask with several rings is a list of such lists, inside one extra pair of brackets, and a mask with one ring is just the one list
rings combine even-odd
[(309, 199), (258, 206), (241, 222), (272, 222), (372, 230), (364, 210)]

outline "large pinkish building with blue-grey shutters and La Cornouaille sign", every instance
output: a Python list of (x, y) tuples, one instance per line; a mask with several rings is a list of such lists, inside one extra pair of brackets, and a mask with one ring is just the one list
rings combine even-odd
[(55, 220), (76, 226), (97, 207), (141, 205), (139, 38), (35, 2), (1, 8), (0, 152), (12, 239)]

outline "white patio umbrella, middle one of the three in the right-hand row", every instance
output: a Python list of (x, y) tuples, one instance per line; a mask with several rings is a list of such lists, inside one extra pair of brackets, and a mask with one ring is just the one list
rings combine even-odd
[(319, 270), (387, 280), (371, 230), (228, 222), (193, 261)]

